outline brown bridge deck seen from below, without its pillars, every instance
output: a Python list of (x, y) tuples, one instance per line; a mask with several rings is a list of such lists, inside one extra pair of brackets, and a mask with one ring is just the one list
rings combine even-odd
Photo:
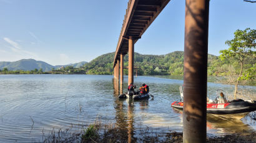
[(129, 36), (137, 42), (149, 25), (160, 14), (170, 0), (129, 0), (126, 15), (122, 24), (121, 33), (117, 43), (114, 65), (120, 59), (120, 54), (128, 53)]

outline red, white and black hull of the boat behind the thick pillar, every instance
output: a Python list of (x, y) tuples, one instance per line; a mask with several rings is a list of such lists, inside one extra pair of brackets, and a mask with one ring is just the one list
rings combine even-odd
[[(183, 109), (184, 103), (175, 101), (172, 103), (173, 108)], [(247, 113), (256, 110), (256, 103), (250, 103), (248, 101), (240, 101), (234, 103), (225, 104), (208, 104), (207, 113), (210, 114), (236, 114)]]

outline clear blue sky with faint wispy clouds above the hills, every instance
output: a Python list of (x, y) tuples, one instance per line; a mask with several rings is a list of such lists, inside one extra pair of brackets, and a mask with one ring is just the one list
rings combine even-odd
[[(91, 61), (116, 50), (128, 0), (0, 0), (0, 61), (34, 58), (51, 65)], [(237, 29), (256, 28), (256, 4), (211, 0), (209, 53), (228, 48)], [(135, 52), (184, 50), (185, 0), (171, 0)]]

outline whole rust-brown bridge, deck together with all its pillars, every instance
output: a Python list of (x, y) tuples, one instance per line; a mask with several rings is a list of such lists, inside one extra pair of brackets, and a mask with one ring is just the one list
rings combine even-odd
[[(128, 84), (134, 83), (134, 44), (170, 0), (129, 0), (114, 57), (114, 79), (122, 86), (124, 55)], [(185, 1), (184, 142), (206, 142), (209, 0)], [(175, 28), (175, 27), (166, 27)]]

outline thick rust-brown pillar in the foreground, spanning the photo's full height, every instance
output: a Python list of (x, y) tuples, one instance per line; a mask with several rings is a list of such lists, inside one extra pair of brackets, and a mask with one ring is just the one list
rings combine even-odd
[(186, 0), (183, 142), (206, 142), (209, 0)]

